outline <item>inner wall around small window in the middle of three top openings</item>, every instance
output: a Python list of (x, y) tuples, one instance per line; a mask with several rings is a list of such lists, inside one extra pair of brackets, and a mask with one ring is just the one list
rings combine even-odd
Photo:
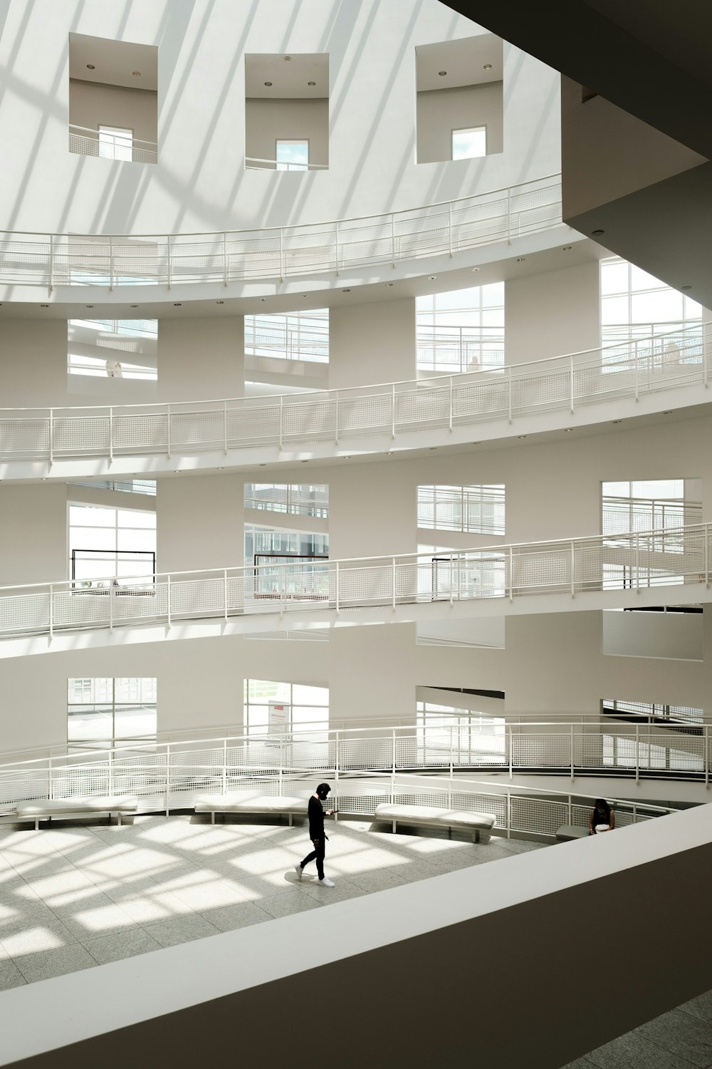
[(274, 159), (274, 142), (303, 139), (310, 143), (310, 164), (329, 164), (329, 100), (244, 102), (244, 154)]

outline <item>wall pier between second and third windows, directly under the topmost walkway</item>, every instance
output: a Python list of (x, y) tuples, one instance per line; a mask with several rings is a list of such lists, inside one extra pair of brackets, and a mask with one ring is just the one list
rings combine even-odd
[(332, 308), (329, 386), (415, 378), (415, 298)]

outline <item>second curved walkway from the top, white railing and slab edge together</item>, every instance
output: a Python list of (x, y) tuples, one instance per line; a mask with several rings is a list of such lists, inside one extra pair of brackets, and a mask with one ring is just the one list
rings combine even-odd
[[(707, 400), (695, 388), (709, 384), (711, 339), (708, 325), (696, 326), (500, 369), (280, 397), (3, 408), (0, 471), (3, 478), (98, 477), (110, 465), (132, 472), (174, 469), (180, 458), (190, 458), (193, 467), (253, 465), (294, 460), (296, 451), (391, 452), (468, 443), (473, 432), (494, 439), (522, 429), (595, 423), (611, 418), (612, 403), (614, 415), (631, 416)], [(600, 416), (597, 406), (604, 404)], [(97, 461), (105, 465), (100, 470)], [(12, 462), (26, 463), (14, 469)]]

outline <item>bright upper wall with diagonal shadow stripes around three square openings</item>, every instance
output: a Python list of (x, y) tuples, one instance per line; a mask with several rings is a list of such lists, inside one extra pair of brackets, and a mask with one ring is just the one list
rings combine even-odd
[[(505, 152), (415, 164), (415, 47), (476, 27), (437, 0), (10, 0), (0, 227), (173, 233), (348, 218), (559, 170), (558, 75), (505, 45)], [(67, 150), (68, 34), (158, 45), (156, 167)], [(330, 168), (244, 170), (244, 53), (329, 51)], [(17, 79), (17, 80), (14, 80)], [(519, 111), (519, 115), (515, 115)]]

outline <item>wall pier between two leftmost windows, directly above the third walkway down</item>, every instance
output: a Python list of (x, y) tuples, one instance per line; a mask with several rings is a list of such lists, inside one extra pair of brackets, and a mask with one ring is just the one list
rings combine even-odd
[(243, 483), (239, 476), (159, 479), (158, 570), (234, 568), (242, 563)]

